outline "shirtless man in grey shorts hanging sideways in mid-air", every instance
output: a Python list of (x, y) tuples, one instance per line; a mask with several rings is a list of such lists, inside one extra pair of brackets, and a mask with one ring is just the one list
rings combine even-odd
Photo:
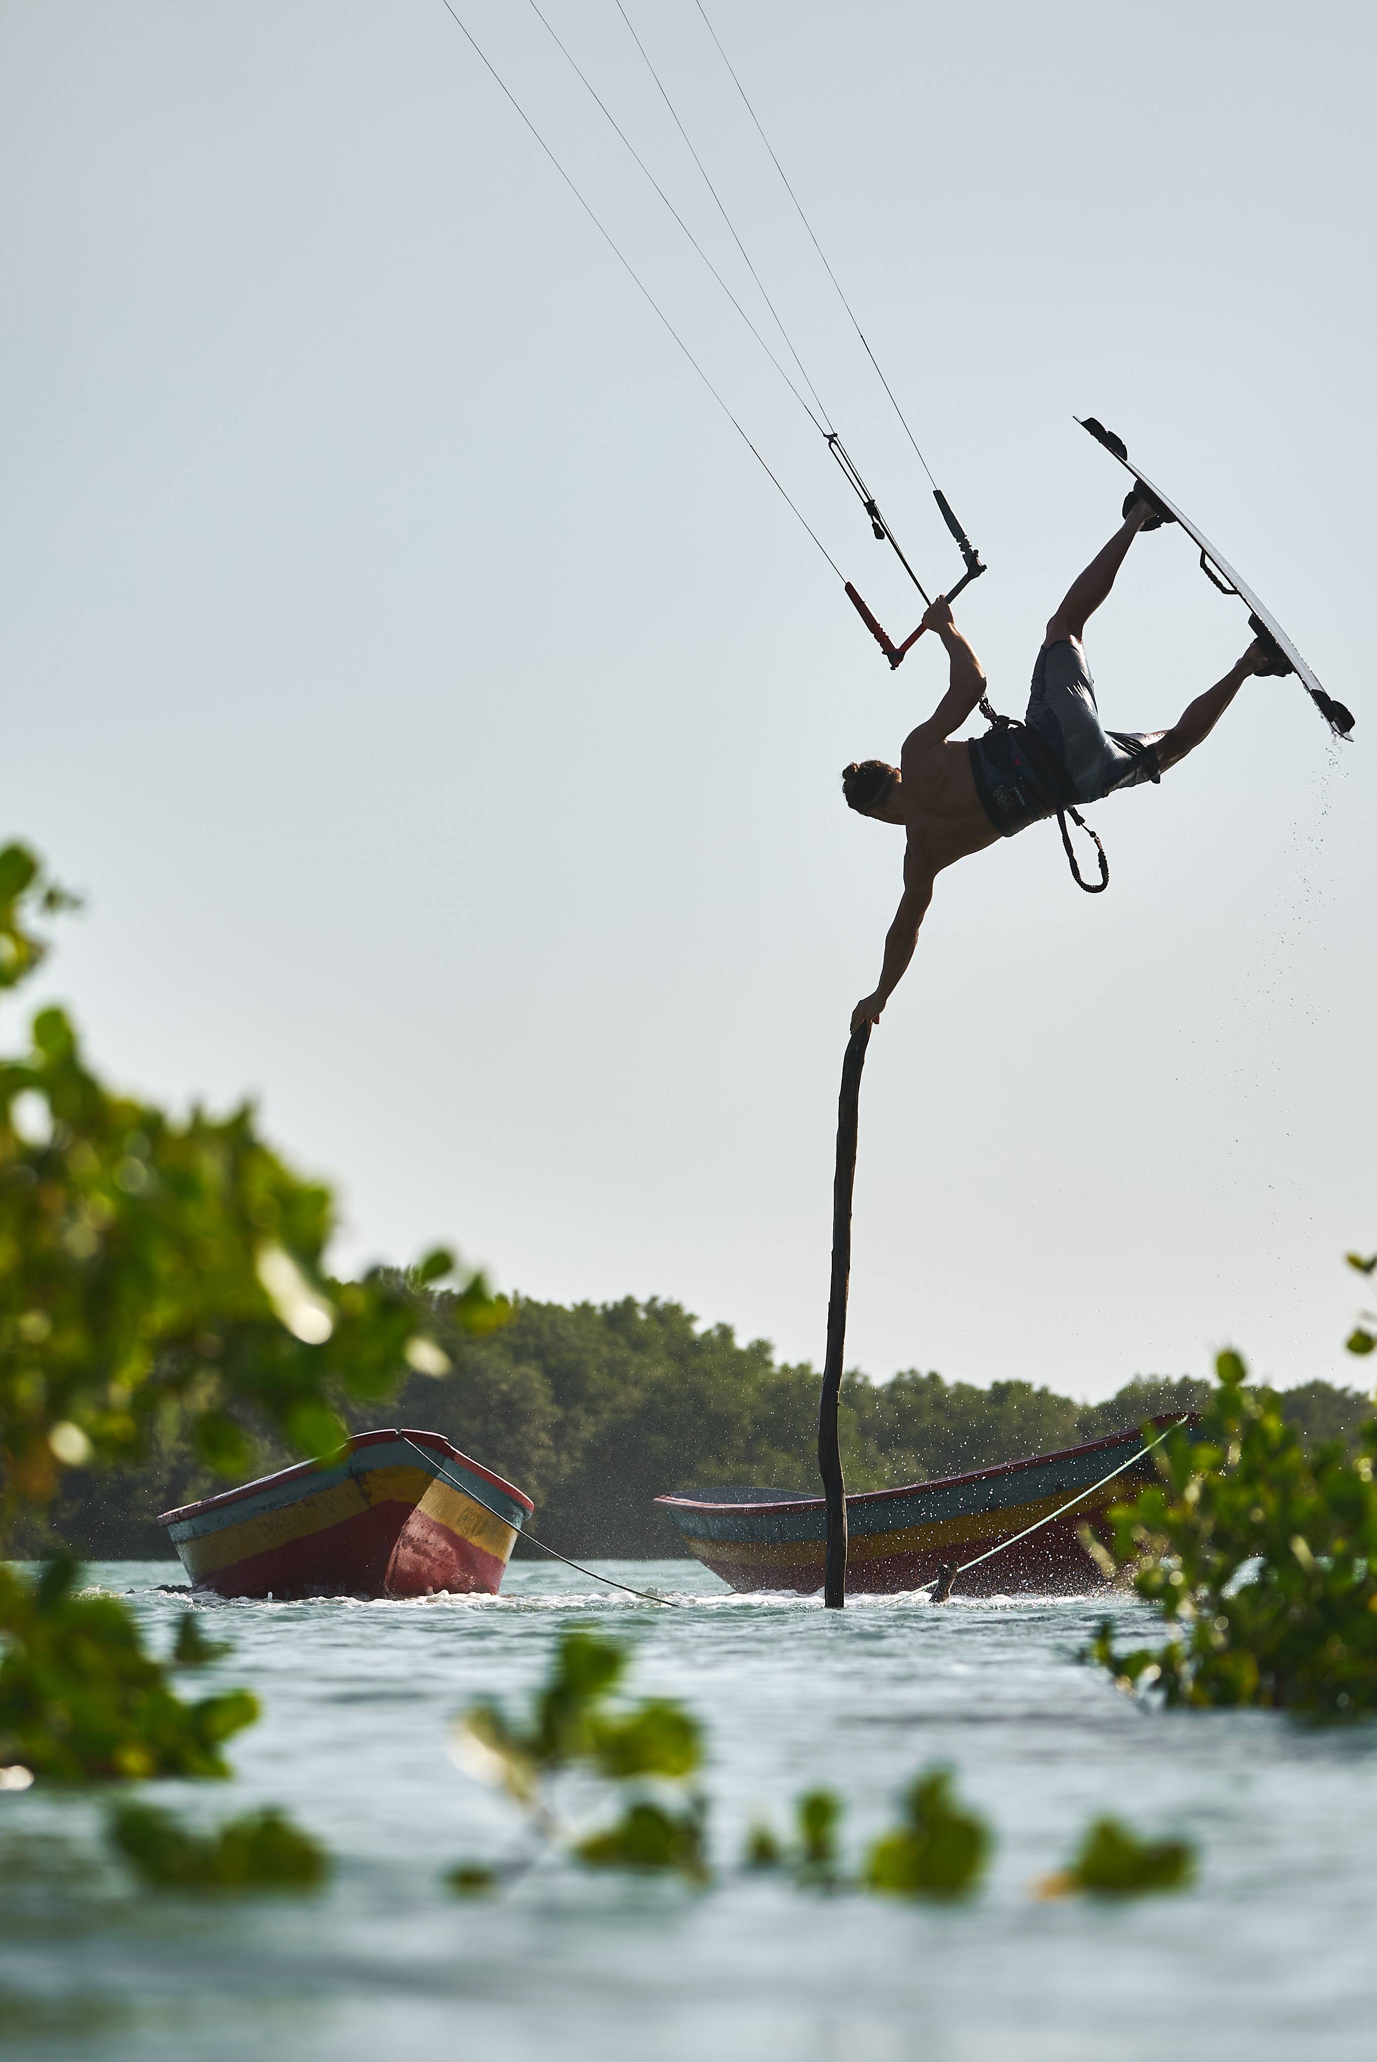
[[(903, 856), (903, 901), (884, 940), (880, 986), (851, 1012), (851, 1031), (878, 1023), (880, 1010), (903, 979), (917, 930), (932, 901), (932, 885), (944, 866), (983, 852), (996, 837), (1012, 837), (1029, 823), (1055, 814), (1057, 802), (1074, 788), (1078, 802), (1099, 802), (1115, 788), (1156, 781), (1169, 767), (1194, 753), (1210, 736), (1220, 716), (1249, 674), (1276, 672), (1272, 652), (1255, 641), (1237, 666), (1198, 695), (1173, 730), (1105, 730), (1095, 703), (1095, 683), (1080, 643), (1086, 619), (1113, 588), (1128, 546), (1140, 530), (1156, 530), (1158, 513), (1136, 491), (1123, 503), (1123, 526), (1074, 581), (1047, 625), (1043, 650), (1033, 668), (1027, 726), (1035, 732), (1033, 753), (1018, 728), (989, 730), (983, 738), (952, 744), (985, 693), (985, 670), (938, 596), (923, 629), (936, 631), (950, 654), (952, 678), (934, 713), (903, 742), (897, 767), (882, 759), (849, 765), (841, 786), (851, 808), (876, 823), (903, 825), (909, 837)], [(1047, 781), (1047, 751), (1066, 767), (1064, 794)]]

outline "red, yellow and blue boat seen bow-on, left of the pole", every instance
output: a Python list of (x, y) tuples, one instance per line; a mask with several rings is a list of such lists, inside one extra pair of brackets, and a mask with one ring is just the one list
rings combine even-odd
[(198, 1590), (216, 1596), (497, 1596), (534, 1511), (437, 1431), (361, 1431), (305, 1460), (163, 1511)]

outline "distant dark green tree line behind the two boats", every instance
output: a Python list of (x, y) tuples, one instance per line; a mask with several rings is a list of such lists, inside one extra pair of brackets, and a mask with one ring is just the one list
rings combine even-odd
[[(575, 1557), (676, 1553), (653, 1497), (695, 1487), (759, 1485), (816, 1493), (818, 1375), (775, 1361), (767, 1340), (740, 1344), (732, 1326), (699, 1326), (678, 1303), (536, 1303), (472, 1340), (447, 1326), (447, 1295), (427, 1293), (427, 1316), (454, 1359), (445, 1377), (410, 1375), (398, 1400), (336, 1406), (352, 1431), (412, 1425), (441, 1431), (462, 1452), (517, 1483), (536, 1503), (532, 1530)], [(433, 1313), (433, 1316), (431, 1316)], [(1200, 1406), (1212, 1384), (1138, 1377), (1109, 1402), (1080, 1404), (1031, 1382), (944, 1382), (905, 1369), (891, 1382), (851, 1371), (843, 1386), (849, 1489), (961, 1474), (1022, 1454), (1074, 1445), (1161, 1410)], [(1305, 1441), (1352, 1437), (1371, 1417), (1356, 1390), (1307, 1382), (1280, 1394)], [(258, 1427), (256, 1466), (297, 1456)], [(225, 1489), (175, 1433), (134, 1468), (72, 1470), (49, 1530), (31, 1520), (19, 1551), (62, 1540), (87, 1559), (165, 1557), (157, 1511)], [(517, 1553), (522, 1549), (517, 1546)]]

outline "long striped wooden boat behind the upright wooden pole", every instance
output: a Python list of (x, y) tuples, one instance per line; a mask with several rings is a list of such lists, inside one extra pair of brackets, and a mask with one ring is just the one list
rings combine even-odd
[[(1191, 1419), (1152, 1419), (1156, 1431)], [(1012, 1592), (1076, 1594), (1105, 1577), (1078, 1528), (1103, 1530), (1111, 1503), (1154, 1478), (1140, 1427), (1068, 1445), (1057, 1454), (1006, 1460), (973, 1474), (847, 1497), (847, 1590), (921, 1590), (944, 1567), (1006, 1549), (961, 1575), (967, 1596)], [(691, 1491), (656, 1497), (691, 1555), (734, 1590), (822, 1588), (822, 1497), (787, 1491)], [(1033, 1530), (1035, 1528), (1035, 1530)], [(1027, 1534), (1020, 1538), (1018, 1534)]]

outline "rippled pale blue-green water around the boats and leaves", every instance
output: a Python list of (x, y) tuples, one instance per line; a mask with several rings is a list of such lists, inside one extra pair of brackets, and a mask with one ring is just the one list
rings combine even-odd
[[(280, 1802), (336, 1856), (313, 1899), (186, 1901), (103, 1860), (99, 1802), (0, 1796), (0, 2054), (45, 2062), (1249, 2062), (1377, 2048), (1377, 1730), (1266, 1714), (1165, 1716), (1076, 1654), (1090, 1600), (934, 1610), (732, 1596), (695, 1563), (606, 1563), (684, 1602), (656, 1610), (522, 1563), (501, 1598), (202, 1604), (264, 1720), (231, 1784), (159, 1784), (204, 1819)], [(107, 1563), (167, 1637), (165, 1563)], [(1123, 1631), (1150, 1623), (1115, 1604)], [(441, 1870), (495, 1858), (513, 1819), (458, 1773), (447, 1722), (519, 1699), (561, 1625), (635, 1639), (631, 1689), (709, 1732), (707, 1893), (542, 1868), (484, 1903)], [(798, 1790), (849, 1800), (855, 1854), (932, 1761), (994, 1821), (983, 1895), (959, 1909), (822, 1897), (736, 1874), (752, 1817)], [(1033, 1878), (1086, 1819), (1189, 1833), (1200, 1887), (1126, 1907), (1045, 1903)], [(14, 1866), (47, 1858), (39, 1887)], [(8, 1856), (8, 1864), (6, 1864)], [(56, 1874), (58, 1864), (66, 1874)]]

